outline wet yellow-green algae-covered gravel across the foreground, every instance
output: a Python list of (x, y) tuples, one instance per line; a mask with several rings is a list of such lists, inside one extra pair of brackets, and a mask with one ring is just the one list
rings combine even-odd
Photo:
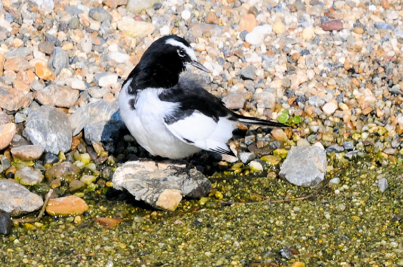
[[(1, 237), (0, 258), (4, 266), (403, 265), (401, 170), (358, 161), (334, 167), (327, 181), (340, 183), (317, 189), (275, 172), (227, 171), (210, 177), (208, 198), (182, 200), (175, 212), (117, 191), (86, 193), (88, 213), (17, 225)], [(381, 177), (389, 183), (384, 193)], [(122, 221), (105, 227), (99, 217)]]

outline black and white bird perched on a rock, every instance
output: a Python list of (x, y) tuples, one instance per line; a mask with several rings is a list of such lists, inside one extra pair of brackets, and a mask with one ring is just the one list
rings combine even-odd
[(209, 72), (186, 40), (164, 36), (150, 45), (122, 84), (120, 114), (152, 155), (180, 159), (202, 149), (233, 155), (228, 140), (238, 122), (287, 126), (227, 109), (198, 80), (180, 76), (187, 65)]

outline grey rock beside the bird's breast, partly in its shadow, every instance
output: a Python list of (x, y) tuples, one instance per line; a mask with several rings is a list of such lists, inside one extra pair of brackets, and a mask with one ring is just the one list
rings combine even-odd
[(87, 143), (106, 142), (116, 139), (119, 130), (124, 128), (117, 101), (98, 101), (79, 108), (69, 118), (73, 135), (84, 128)]

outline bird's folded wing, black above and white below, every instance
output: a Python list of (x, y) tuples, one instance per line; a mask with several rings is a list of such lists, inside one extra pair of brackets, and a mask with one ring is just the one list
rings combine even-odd
[(232, 137), (236, 119), (219, 99), (198, 84), (181, 78), (177, 85), (160, 94), (161, 101), (178, 103), (177, 109), (165, 116), (165, 126), (183, 142), (233, 155), (227, 141)]

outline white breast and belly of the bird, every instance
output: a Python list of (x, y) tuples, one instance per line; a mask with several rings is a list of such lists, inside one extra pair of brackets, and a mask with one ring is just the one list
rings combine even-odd
[(120, 91), (120, 115), (136, 141), (152, 155), (168, 158), (183, 158), (201, 149), (176, 138), (164, 123), (165, 114), (175, 109), (175, 104), (163, 102), (158, 94), (163, 89), (143, 90), (136, 101), (136, 109), (129, 105), (135, 96), (127, 95), (127, 85)]

